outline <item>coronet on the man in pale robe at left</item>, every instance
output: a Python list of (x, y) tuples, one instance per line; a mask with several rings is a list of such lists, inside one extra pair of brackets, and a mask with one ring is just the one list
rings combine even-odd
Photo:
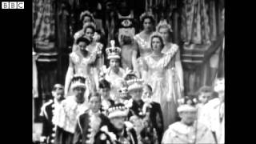
[(71, 78), (70, 89), (73, 90), (76, 87), (86, 88), (86, 77), (80, 74), (74, 74)]

